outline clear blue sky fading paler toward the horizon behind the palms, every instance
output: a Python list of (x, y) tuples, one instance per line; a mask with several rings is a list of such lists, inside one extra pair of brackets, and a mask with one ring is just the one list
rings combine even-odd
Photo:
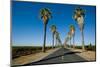
[(95, 44), (95, 6), (82, 6), (70, 4), (48, 4), (38, 2), (12, 2), (12, 44), (13, 46), (42, 46), (43, 22), (39, 17), (41, 8), (49, 8), (52, 18), (47, 25), (47, 45), (52, 45), (50, 26), (56, 25), (61, 41), (69, 31), (69, 25), (76, 28), (75, 43), (81, 44), (81, 33), (78, 24), (72, 19), (74, 9), (80, 6), (86, 10), (84, 38), (85, 44)]

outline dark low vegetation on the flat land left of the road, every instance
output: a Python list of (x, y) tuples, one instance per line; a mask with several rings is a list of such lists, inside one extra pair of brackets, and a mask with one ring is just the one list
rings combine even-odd
[[(46, 50), (51, 49), (51, 46), (45, 47)], [(18, 58), (20, 56), (26, 56), (30, 54), (35, 54), (41, 52), (41, 46), (13, 46), (12, 47), (12, 59)]]

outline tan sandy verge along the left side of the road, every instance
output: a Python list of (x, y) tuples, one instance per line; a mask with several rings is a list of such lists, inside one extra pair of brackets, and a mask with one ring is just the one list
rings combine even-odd
[(45, 58), (46, 56), (52, 54), (53, 52), (55, 52), (59, 49), (60, 48), (55, 48), (55, 49), (50, 49), (50, 50), (46, 51), (45, 53), (39, 52), (39, 53), (36, 53), (36, 54), (21, 56), (19, 58), (12, 60), (12, 66), (13, 65), (23, 65), (23, 64), (26, 64), (26, 63), (39, 61), (39, 60)]

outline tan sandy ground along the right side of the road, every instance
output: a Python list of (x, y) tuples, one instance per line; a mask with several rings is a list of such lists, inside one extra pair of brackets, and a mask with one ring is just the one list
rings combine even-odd
[(70, 49), (74, 52), (80, 52), (76, 53), (77, 55), (81, 56), (82, 58), (88, 60), (88, 61), (95, 61), (96, 60), (96, 52), (95, 51), (82, 51), (81, 49)]

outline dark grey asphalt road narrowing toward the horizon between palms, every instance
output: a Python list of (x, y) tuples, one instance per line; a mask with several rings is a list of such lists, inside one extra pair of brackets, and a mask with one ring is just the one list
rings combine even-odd
[(87, 60), (83, 59), (82, 57), (76, 55), (76, 53), (80, 52), (72, 52), (68, 49), (61, 48), (58, 51), (50, 54), (49, 56), (45, 57), (44, 59), (33, 62), (27, 65), (43, 65), (43, 64), (58, 64), (58, 63), (73, 63), (73, 62), (86, 62)]

